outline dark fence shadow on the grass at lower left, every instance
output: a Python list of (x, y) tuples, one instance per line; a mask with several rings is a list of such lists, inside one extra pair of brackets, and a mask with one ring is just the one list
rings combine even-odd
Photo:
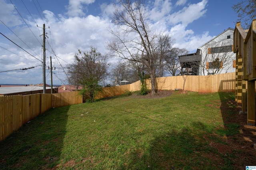
[(60, 159), (70, 106), (50, 109), (0, 142), (0, 169), (51, 169)]

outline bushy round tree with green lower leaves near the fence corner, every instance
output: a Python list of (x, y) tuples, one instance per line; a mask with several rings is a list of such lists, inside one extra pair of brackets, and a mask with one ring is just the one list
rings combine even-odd
[(100, 91), (99, 83), (106, 77), (108, 64), (106, 56), (90, 47), (90, 51), (74, 55), (74, 63), (68, 65), (68, 81), (71, 85), (81, 85), (82, 95), (88, 95), (94, 101), (95, 95)]

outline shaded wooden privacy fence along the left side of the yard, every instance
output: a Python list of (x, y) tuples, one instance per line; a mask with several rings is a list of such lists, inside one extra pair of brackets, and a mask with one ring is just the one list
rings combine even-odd
[(75, 92), (0, 97), (0, 141), (52, 107), (82, 103)]

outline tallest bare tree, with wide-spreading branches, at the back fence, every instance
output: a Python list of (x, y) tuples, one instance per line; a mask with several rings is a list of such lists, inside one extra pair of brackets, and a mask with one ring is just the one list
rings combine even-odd
[[(150, 73), (152, 95), (156, 93), (156, 71), (161, 62), (157, 49), (163, 34), (156, 34), (150, 28), (144, 0), (118, 0), (113, 4), (112, 22), (114, 29), (109, 28), (113, 36), (107, 48), (112, 55), (142, 63)], [(164, 49), (162, 51), (165, 51)]]

